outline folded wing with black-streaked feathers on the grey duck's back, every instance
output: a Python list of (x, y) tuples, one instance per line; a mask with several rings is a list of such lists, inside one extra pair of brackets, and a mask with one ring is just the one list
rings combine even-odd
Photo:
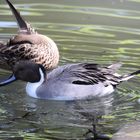
[(57, 78), (80, 85), (94, 85), (101, 82), (117, 85), (120, 82), (119, 76), (114, 73), (118, 68), (119, 64), (110, 67), (100, 67), (93, 63), (72, 64), (61, 67), (61, 72), (57, 74)]

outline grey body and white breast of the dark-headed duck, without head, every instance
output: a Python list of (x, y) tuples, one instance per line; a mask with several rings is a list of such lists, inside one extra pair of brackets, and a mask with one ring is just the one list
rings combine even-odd
[[(60, 66), (39, 82), (28, 83), (26, 92), (39, 99), (77, 100), (111, 94), (123, 78), (114, 70), (120, 64), (99, 67), (97, 64), (79, 63)], [(117, 75), (117, 76), (116, 76)]]

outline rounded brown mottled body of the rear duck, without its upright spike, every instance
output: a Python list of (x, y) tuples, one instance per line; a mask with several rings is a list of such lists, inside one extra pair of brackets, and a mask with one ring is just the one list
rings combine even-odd
[(31, 60), (42, 64), (46, 69), (56, 67), (59, 52), (55, 44), (48, 37), (40, 34), (28, 36), (28, 42), (27, 35), (19, 35), (10, 40), (6, 46), (0, 47), (0, 60), (5, 61), (10, 69), (19, 60)]

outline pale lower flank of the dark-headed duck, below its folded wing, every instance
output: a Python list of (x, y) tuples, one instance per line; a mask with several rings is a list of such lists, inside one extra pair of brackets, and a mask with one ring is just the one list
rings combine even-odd
[[(39, 99), (51, 100), (79, 100), (91, 98), (94, 96), (104, 96), (112, 93), (114, 88), (112, 85), (105, 87), (102, 83), (95, 85), (76, 85), (64, 81), (49, 81), (42, 84), (36, 89), (36, 92), (30, 92), (28, 89), (29, 83), (26, 87), (26, 92), (29, 96)], [(31, 88), (33, 88), (31, 86)]]

